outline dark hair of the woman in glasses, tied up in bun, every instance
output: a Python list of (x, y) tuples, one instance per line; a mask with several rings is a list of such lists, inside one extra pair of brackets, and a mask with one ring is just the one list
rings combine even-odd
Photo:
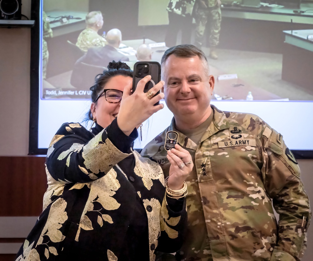
[[(131, 68), (126, 64), (122, 63), (121, 61), (118, 62), (111, 62), (108, 65), (108, 70), (103, 71), (103, 73), (98, 74), (95, 77), (95, 85), (90, 87), (91, 93), (91, 101), (95, 102), (98, 95), (103, 91), (105, 84), (114, 76), (123, 75), (129, 76), (133, 78), (133, 71)], [(87, 113), (87, 118), (85, 121), (92, 120), (91, 110)]]

